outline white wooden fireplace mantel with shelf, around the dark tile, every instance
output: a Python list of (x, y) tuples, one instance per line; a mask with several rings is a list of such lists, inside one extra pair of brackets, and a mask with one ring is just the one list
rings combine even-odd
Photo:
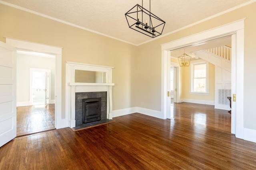
[[(75, 69), (106, 72), (106, 83), (74, 82)], [(76, 126), (75, 94), (77, 92), (107, 92), (107, 118), (112, 119), (112, 68), (93, 64), (66, 62), (66, 116), (69, 117), (69, 127)]]

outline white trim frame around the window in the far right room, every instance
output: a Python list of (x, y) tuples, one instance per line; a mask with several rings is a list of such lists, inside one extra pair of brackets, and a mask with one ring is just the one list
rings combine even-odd
[[(196, 64), (206, 64), (206, 92), (193, 92), (193, 76), (194, 65)], [(190, 62), (190, 94), (196, 95), (209, 95), (209, 63), (202, 59), (191, 60)]]

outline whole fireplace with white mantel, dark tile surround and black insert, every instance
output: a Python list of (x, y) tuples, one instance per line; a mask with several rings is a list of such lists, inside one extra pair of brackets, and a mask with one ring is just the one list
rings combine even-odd
[[(93, 126), (112, 119), (112, 86), (114, 86), (114, 83), (112, 83), (112, 68), (114, 67), (66, 61), (67, 114), (65, 116), (69, 119), (70, 128), (78, 129), (79, 127)], [(80, 77), (80, 73), (82, 73), (82, 77)], [(92, 73), (93, 76), (87, 76), (92, 75)], [(77, 75), (79, 76), (77, 77)], [(101, 105), (98, 107), (101, 115), (92, 119), (99, 119), (100, 117), (101, 120), (88, 122), (92, 121), (90, 119), (84, 121), (82, 115), (83, 99), (92, 98), (100, 98), (99, 103)]]

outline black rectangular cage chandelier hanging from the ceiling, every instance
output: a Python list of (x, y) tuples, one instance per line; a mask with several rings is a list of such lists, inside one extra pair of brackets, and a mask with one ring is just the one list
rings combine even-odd
[(125, 17), (131, 29), (140, 33), (148, 35), (149, 37), (157, 37), (162, 34), (164, 30), (165, 21), (151, 13), (151, 5), (149, 1), (149, 11), (139, 4), (126, 12)]

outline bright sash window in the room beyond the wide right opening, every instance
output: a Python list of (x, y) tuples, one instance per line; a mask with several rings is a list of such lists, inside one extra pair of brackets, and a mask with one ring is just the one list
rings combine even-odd
[(192, 63), (190, 92), (208, 93), (208, 63)]

